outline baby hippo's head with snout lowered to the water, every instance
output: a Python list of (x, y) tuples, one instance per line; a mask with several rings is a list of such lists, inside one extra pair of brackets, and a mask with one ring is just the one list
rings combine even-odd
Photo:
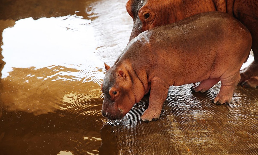
[(132, 83), (126, 72), (118, 67), (109, 67), (105, 64), (106, 75), (101, 90), (104, 94), (102, 114), (111, 120), (121, 119), (135, 104)]

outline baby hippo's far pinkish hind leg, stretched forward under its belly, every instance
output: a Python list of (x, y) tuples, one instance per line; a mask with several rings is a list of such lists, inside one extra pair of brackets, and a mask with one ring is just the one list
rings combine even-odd
[(203, 80), (203, 81), (201, 81), (201, 83), (198, 86), (193, 85), (191, 87), (191, 91), (193, 93), (199, 92), (199, 91), (201, 93), (204, 93), (204, 92), (208, 91), (211, 87), (216, 85), (216, 83), (218, 83), (218, 82), (219, 82), (219, 78)]

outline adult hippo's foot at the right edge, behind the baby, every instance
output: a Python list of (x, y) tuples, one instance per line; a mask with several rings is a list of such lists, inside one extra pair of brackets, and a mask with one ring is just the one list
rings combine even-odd
[(243, 87), (256, 88), (258, 86), (258, 63), (254, 61), (240, 71), (241, 80), (239, 84)]

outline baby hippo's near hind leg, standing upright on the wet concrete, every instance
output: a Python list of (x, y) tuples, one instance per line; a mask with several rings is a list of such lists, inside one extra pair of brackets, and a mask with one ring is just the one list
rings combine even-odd
[(212, 100), (215, 104), (229, 103), (240, 80), (239, 71), (235, 74), (224, 74), (220, 77), (221, 87), (217, 96)]

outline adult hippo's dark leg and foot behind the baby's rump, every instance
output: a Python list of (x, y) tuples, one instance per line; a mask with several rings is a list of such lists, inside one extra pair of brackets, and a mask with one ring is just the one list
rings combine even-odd
[(258, 1), (235, 0), (234, 15), (250, 31), (253, 39), (254, 61), (240, 71), (240, 84), (246, 87), (258, 86)]

